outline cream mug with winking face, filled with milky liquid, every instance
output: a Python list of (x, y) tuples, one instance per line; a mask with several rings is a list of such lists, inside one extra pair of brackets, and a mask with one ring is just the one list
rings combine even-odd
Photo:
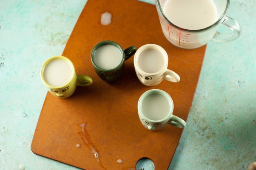
[(139, 81), (144, 85), (158, 85), (163, 79), (170, 82), (179, 82), (179, 75), (167, 69), (167, 67), (168, 54), (159, 45), (143, 45), (134, 55), (134, 68)]

